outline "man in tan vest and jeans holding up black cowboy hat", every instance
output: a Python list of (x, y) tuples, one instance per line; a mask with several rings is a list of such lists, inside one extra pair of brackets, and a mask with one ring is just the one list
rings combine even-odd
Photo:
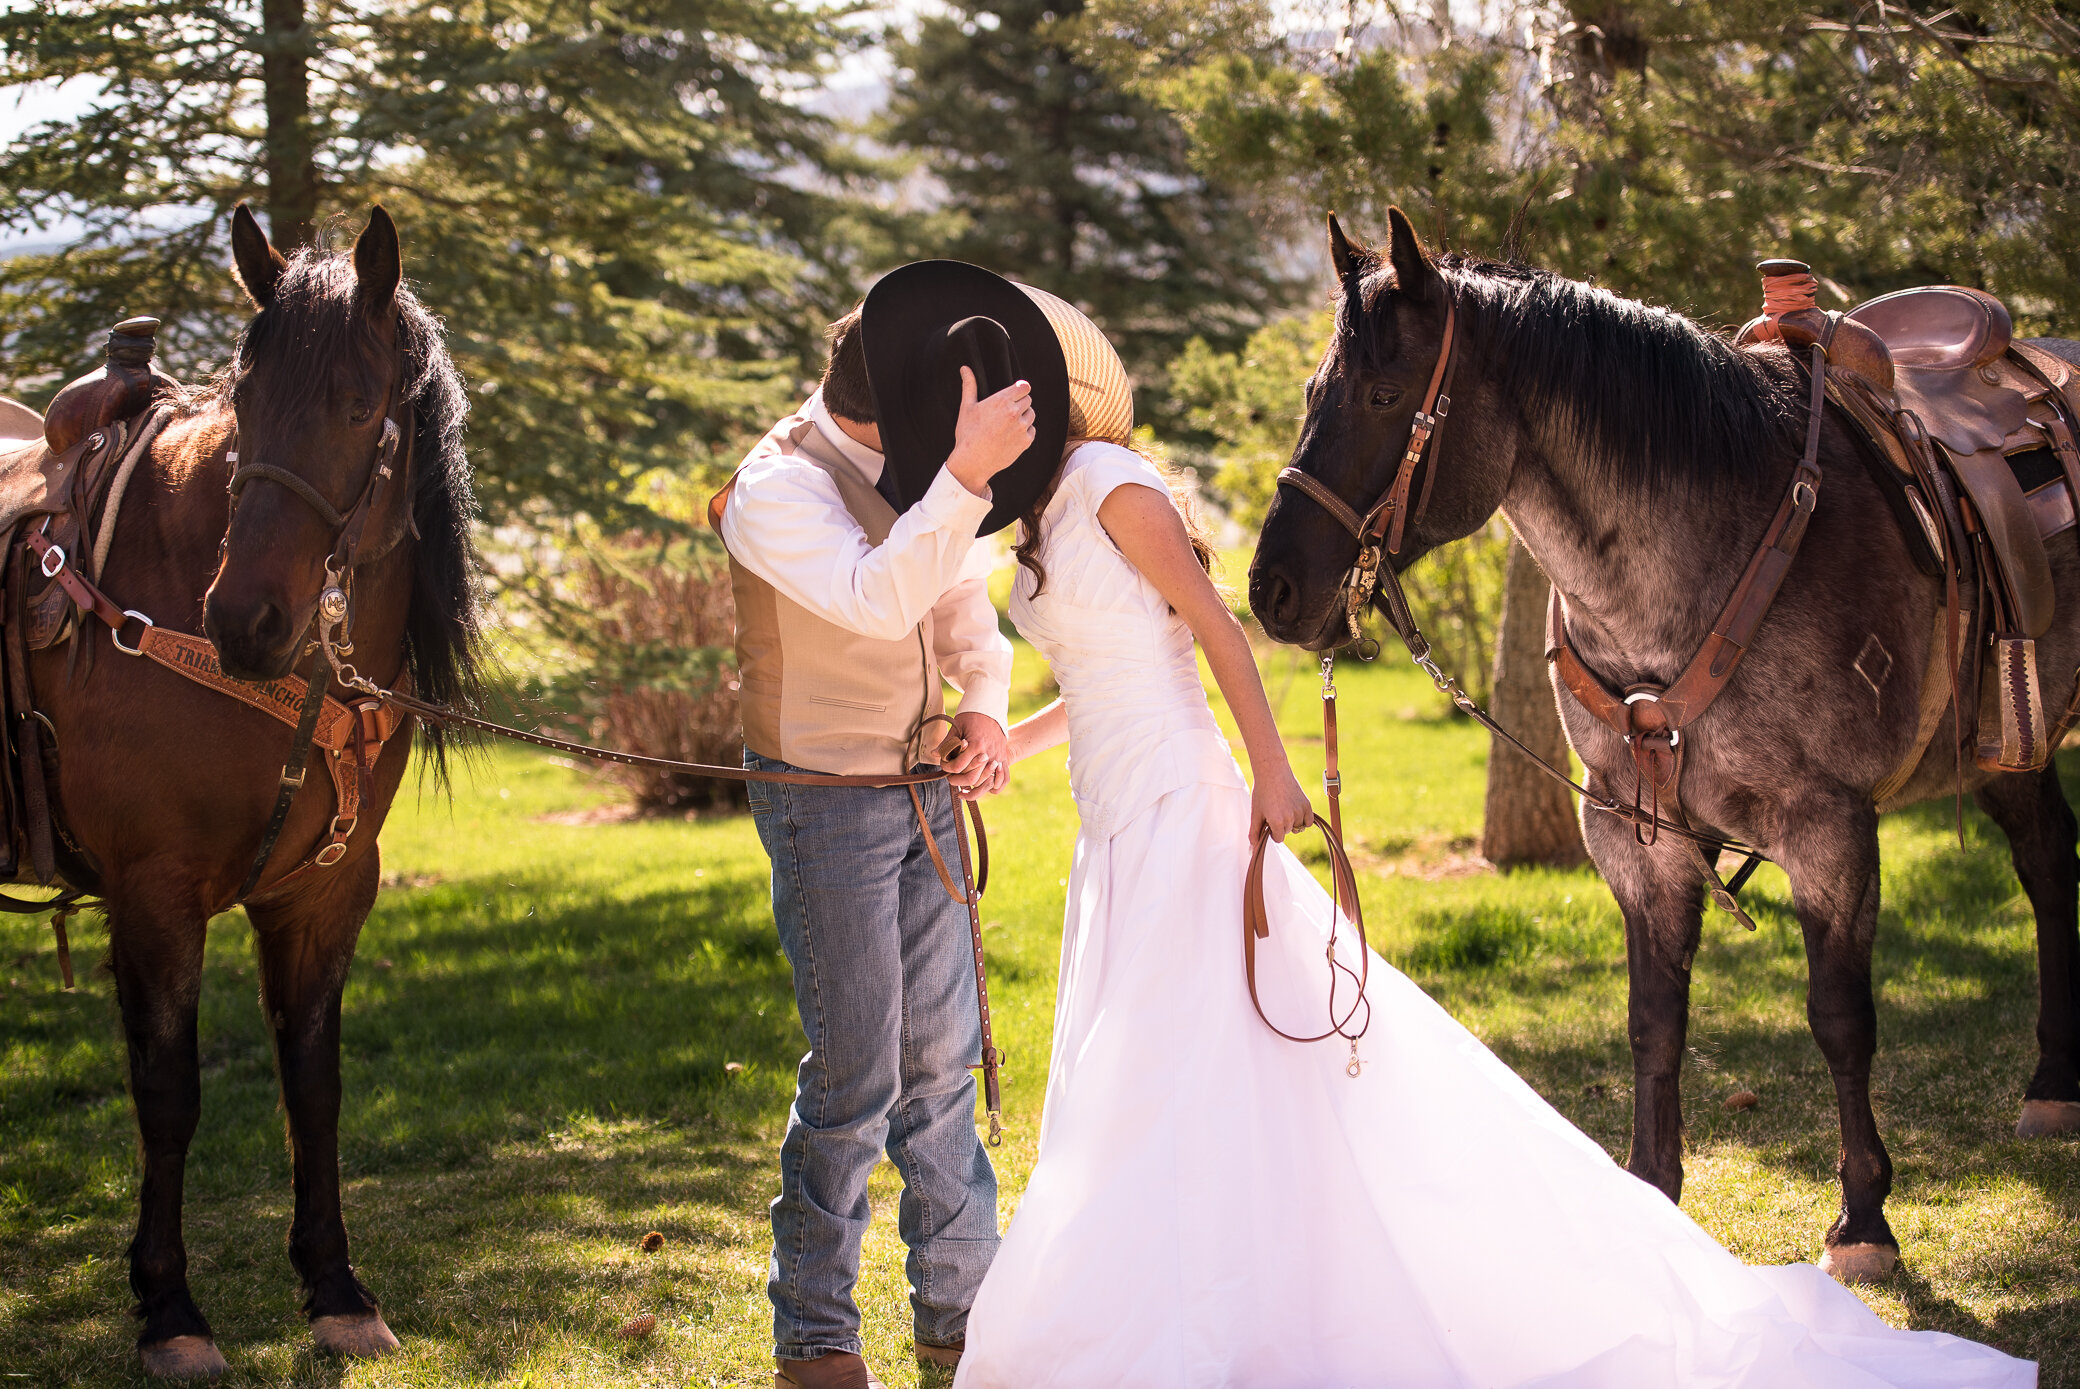
[[(994, 794), (1011, 643), (976, 536), (1023, 512), (1061, 457), (1059, 345), (1009, 281), (955, 262), (884, 277), (828, 337), (822, 387), (709, 503), (736, 595), (745, 765), (934, 763), (951, 682), (948, 784)], [(951, 844), (946, 786), (917, 790)], [(951, 1368), (998, 1241), (969, 1075), (982, 1044), (967, 909), (901, 786), (751, 782), (751, 813), (809, 1036), (772, 1204), (776, 1389), (880, 1383), (859, 1356), (853, 1285), (884, 1150), (903, 1177), (917, 1358)]]

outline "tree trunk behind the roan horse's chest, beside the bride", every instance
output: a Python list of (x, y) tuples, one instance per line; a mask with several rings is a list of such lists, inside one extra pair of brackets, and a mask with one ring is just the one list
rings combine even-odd
[[(1566, 732), (1545, 678), (1545, 601), (1552, 586), (1531, 551), (1510, 536), (1510, 568), (1502, 591), (1502, 634), (1496, 640), (1496, 722), (1556, 767), (1568, 765)], [(1502, 738), (1487, 746), (1487, 815), (1481, 857), (1498, 867), (1541, 863), (1572, 867), (1587, 861), (1575, 792), (1539, 771)]]

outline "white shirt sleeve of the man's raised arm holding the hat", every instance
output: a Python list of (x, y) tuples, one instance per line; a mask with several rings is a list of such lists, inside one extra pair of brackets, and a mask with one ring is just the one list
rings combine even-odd
[[(830, 474), (786, 453), (768, 453), (736, 474), (722, 514), (722, 543), (738, 564), (826, 622), (899, 640), (961, 582), (963, 564), (976, 549), (976, 526), (988, 512), (988, 497), (940, 472), (924, 499), (896, 518), (888, 539), (867, 545), (867, 532), (844, 509)], [(988, 605), (988, 593), (982, 603)], [(1009, 665), (1005, 643), (1007, 688)]]

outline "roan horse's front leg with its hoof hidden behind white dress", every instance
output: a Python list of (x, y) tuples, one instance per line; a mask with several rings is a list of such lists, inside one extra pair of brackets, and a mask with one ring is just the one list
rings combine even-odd
[(1672, 840), (1641, 848), (1633, 828), (1610, 815), (1589, 815), (1583, 838), (1624, 913), (1633, 1044), (1633, 1152), (1624, 1167), (1668, 1200), (1683, 1200), (1683, 1046), (1704, 875)]

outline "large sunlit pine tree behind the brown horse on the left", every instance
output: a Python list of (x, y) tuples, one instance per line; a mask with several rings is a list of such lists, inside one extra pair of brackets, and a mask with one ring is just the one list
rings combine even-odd
[[(836, 15), (755, 0), (37, 0), (0, 83), (98, 79), (0, 152), (0, 227), (83, 220), (0, 264), (0, 389), (42, 399), (125, 314), (196, 376), (243, 320), (229, 212), (283, 247), (399, 220), (472, 389), (493, 516), (626, 514), (653, 466), (726, 457), (799, 387), (865, 214), (792, 100)], [(807, 175), (807, 177), (805, 177)]]

